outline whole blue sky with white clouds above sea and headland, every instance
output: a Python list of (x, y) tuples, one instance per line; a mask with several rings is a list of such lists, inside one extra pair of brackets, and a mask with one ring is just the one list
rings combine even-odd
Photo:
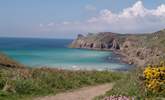
[(75, 38), (165, 29), (165, 0), (0, 0), (0, 37)]

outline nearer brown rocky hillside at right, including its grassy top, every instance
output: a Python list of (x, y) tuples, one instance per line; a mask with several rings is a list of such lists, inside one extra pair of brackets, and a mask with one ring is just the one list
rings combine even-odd
[(127, 36), (120, 49), (124, 61), (146, 66), (159, 64), (165, 59), (165, 30), (152, 34)]

